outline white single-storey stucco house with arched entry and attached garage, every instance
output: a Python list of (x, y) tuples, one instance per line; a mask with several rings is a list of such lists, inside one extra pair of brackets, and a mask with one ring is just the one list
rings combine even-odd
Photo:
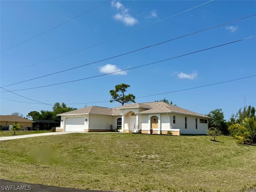
[(117, 108), (90, 106), (61, 116), (56, 131), (104, 132), (120, 129), (120, 132), (141, 132), (173, 135), (206, 134), (208, 116), (192, 112), (164, 102), (134, 103)]

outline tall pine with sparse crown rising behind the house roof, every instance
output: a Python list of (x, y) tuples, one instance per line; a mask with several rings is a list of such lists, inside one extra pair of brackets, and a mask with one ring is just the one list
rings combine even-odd
[(122, 105), (124, 104), (128, 104), (128, 103), (135, 103), (135, 96), (133, 94), (128, 94), (128, 95), (125, 95), (124, 93), (126, 92), (126, 89), (130, 87), (130, 85), (127, 85), (127, 84), (120, 84), (120, 85), (116, 85), (115, 86), (115, 89), (114, 90), (110, 90), (110, 95), (112, 96), (112, 99), (110, 100), (110, 103), (111, 102), (119, 102), (121, 103)]

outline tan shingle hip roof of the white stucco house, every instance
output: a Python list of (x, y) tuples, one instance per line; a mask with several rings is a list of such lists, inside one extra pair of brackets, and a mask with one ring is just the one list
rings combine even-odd
[(150, 102), (150, 103), (133, 103), (124, 106), (120, 106), (117, 108), (106, 108), (106, 107), (98, 107), (98, 106), (90, 106), (74, 111), (69, 111), (66, 113), (58, 114), (61, 115), (71, 115), (71, 114), (97, 114), (97, 115), (120, 115), (120, 109), (123, 108), (144, 108), (142, 112), (137, 114), (152, 114), (152, 113), (176, 113), (176, 114), (186, 114), (191, 116), (198, 116), (209, 118), (208, 116), (186, 110), (184, 108), (180, 108), (178, 106), (174, 106), (165, 102)]

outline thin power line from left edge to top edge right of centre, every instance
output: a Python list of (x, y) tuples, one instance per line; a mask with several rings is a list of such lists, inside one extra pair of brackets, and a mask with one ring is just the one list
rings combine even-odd
[(200, 6), (204, 5), (204, 4), (210, 3), (210, 2), (212, 2), (212, 1), (214, 1), (214, 0), (211, 0), (211, 1), (209, 1), (209, 2), (206, 2), (206, 3), (200, 4), (200, 5), (198, 5), (198, 6), (195, 6), (195, 7), (193, 7), (193, 8), (190, 8), (190, 9), (185, 10), (185, 11), (183, 11), (183, 12), (180, 12), (180, 13), (178, 13), (178, 14), (175, 14), (175, 15), (169, 16), (169, 17), (164, 18), (164, 19), (162, 19), (162, 20), (160, 20), (160, 21), (154, 22), (154, 23), (152, 23), (152, 24), (149, 24), (149, 25), (144, 26), (144, 27), (142, 27), (142, 28), (139, 28), (139, 29), (137, 29), (137, 30), (134, 30), (134, 31), (128, 32), (128, 33), (123, 34), (123, 35), (121, 35), (121, 36), (117, 36), (117, 37), (115, 37), (115, 38), (113, 38), (113, 39), (110, 39), (110, 40), (107, 40), (107, 41), (101, 42), (101, 43), (99, 43), (99, 44), (95, 44), (95, 45), (92, 45), (92, 46), (90, 46), (90, 47), (83, 48), (83, 49), (80, 49), (80, 50), (77, 50), (77, 51), (74, 51), (74, 52), (71, 52), (71, 53), (68, 53), (68, 54), (64, 54), (64, 55), (62, 55), (62, 56), (58, 56), (58, 57), (55, 57), (55, 58), (51, 58), (51, 59), (48, 59), (48, 60), (45, 60), (45, 61), (42, 61), (42, 62), (38, 62), (38, 63), (32, 64), (32, 65), (28, 65), (28, 66), (24, 66), (24, 67), (16, 68), (16, 69), (13, 69), (13, 70), (3, 71), (3, 72), (0, 72), (0, 73), (11, 72), (11, 71), (15, 71), (15, 70), (19, 70), (19, 69), (27, 68), (27, 67), (30, 67), (30, 66), (34, 66), (34, 65), (38, 65), (38, 64), (42, 64), (42, 63), (45, 63), (45, 62), (48, 62), (48, 61), (52, 61), (52, 60), (55, 60), (55, 59), (58, 59), (58, 58), (62, 58), (62, 57), (64, 57), (64, 56), (68, 56), (68, 55), (71, 55), (71, 54), (74, 54), (74, 53), (77, 53), (77, 52), (80, 52), (80, 51), (83, 51), (83, 50), (86, 50), (86, 49), (89, 49), (89, 48), (92, 48), (92, 47), (95, 47), (95, 46), (98, 46), (98, 45), (101, 45), (101, 44), (104, 44), (104, 43), (110, 42), (110, 41), (112, 41), (112, 40), (116, 40), (116, 39), (118, 39), (118, 38), (120, 38), (120, 37), (123, 37), (123, 36), (126, 36), (126, 35), (128, 35), (128, 34), (131, 34), (131, 33), (137, 32), (137, 31), (139, 31), (139, 30), (142, 30), (142, 29), (144, 29), (144, 28), (147, 28), (147, 27), (149, 27), (149, 26), (152, 26), (152, 25), (154, 25), (154, 24), (157, 24), (157, 23), (159, 23), (159, 22), (162, 22), (162, 21), (164, 21), (164, 20), (167, 20), (167, 19), (172, 18), (172, 17), (174, 17), (174, 16), (177, 16), (177, 15), (179, 15), (179, 14), (182, 14), (182, 13), (184, 13), (184, 12), (190, 11), (190, 10), (192, 10), (192, 9), (195, 9), (195, 8), (197, 8), (197, 7), (200, 7)]

